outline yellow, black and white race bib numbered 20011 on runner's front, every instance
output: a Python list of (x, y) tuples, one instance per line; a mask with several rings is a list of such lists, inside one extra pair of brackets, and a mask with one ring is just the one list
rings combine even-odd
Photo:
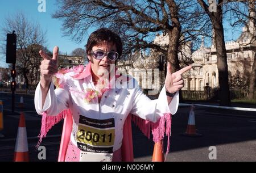
[(96, 120), (80, 115), (76, 134), (77, 147), (81, 150), (80, 160), (112, 160), (114, 139), (114, 118)]

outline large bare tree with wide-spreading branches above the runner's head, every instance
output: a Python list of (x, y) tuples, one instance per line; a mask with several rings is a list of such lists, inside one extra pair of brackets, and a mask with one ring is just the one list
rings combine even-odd
[[(193, 35), (195, 38), (197, 31), (207, 28), (196, 1), (64, 0), (58, 4), (59, 10), (53, 18), (63, 19), (64, 35), (81, 41), (89, 28), (108, 27), (122, 37), (123, 59), (141, 49), (155, 50), (167, 55), (173, 71), (180, 68), (177, 56), (180, 36), (184, 34), (187, 39)], [(184, 29), (183, 23), (186, 23)], [(166, 47), (154, 43), (157, 34), (169, 36)]]

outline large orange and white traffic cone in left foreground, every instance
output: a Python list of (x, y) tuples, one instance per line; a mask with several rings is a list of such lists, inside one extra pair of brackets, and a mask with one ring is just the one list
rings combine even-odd
[(14, 151), (14, 162), (28, 162), (27, 130), (23, 113), (20, 113), (19, 128)]

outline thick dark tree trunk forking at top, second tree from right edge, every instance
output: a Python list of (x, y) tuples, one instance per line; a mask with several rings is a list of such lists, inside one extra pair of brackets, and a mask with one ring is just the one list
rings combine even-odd
[(222, 19), (224, 12), (222, 10), (223, 0), (216, 1), (216, 9), (209, 10), (209, 5), (204, 0), (197, 0), (201, 7), (208, 14), (212, 27), (214, 29), (214, 41), (217, 52), (217, 68), (218, 68), (218, 81), (220, 83), (220, 104), (222, 106), (230, 106), (230, 91), (228, 80), (228, 62), (226, 57), (226, 47), (224, 40), (224, 28)]

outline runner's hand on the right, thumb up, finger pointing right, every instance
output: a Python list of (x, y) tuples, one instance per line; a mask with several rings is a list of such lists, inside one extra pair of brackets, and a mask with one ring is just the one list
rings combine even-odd
[(184, 67), (183, 69), (180, 69), (179, 71), (176, 71), (175, 73), (172, 73), (171, 71), (171, 64), (168, 62), (167, 64), (167, 74), (166, 74), (166, 81), (164, 81), (166, 85), (166, 91), (170, 93), (175, 93), (179, 91), (181, 88), (184, 87), (184, 81), (182, 79), (181, 74), (183, 74), (185, 71), (188, 71), (191, 69), (192, 66), (189, 65), (187, 67)]

